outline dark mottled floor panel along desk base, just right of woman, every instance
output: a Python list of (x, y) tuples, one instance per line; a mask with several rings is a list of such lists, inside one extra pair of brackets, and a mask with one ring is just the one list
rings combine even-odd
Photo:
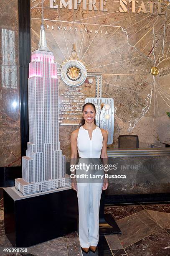
[(111, 213), (115, 220), (120, 220), (142, 210), (144, 210), (144, 208), (141, 205), (122, 205), (104, 207), (104, 212)]

